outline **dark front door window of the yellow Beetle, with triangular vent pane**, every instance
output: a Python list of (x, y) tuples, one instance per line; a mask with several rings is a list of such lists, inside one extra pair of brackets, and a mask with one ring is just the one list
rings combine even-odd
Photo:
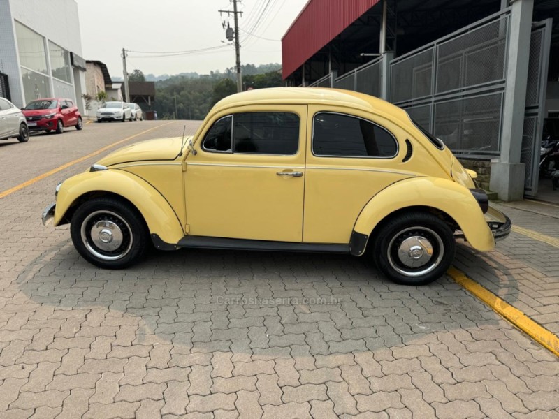
[(291, 112), (245, 112), (219, 119), (202, 147), (210, 152), (291, 156), (299, 147), (299, 117)]

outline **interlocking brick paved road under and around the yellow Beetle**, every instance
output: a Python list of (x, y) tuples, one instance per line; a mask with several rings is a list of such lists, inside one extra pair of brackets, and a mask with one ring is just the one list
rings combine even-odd
[[(164, 124), (0, 142), (0, 193), (198, 123)], [(349, 256), (238, 251), (89, 265), (39, 214), (103, 154), (0, 199), (1, 418), (559, 418), (558, 358), (449, 277), (397, 286)], [(460, 244), (458, 263), (525, 263), (511, 246)]]

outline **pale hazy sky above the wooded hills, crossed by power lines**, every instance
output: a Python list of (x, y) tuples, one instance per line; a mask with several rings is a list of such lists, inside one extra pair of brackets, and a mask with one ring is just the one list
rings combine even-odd
[[(243, 12), (239, 18), (241, 64), (281, 63), (280, 40), (305, 3), (242, 0), (238, 6)], [(135, 68), (155, 75), (209, 73), (235, 66), (234, 47), (222, 43), (226, 41), (222, 22), (229, 21), (233, 27), (233, 16), (220, 17), (217, 11), (233, 10), (228, 0), (78, 0), (78, 10), (83, 56), (105, 63), (112, 78), (122, 77), (123, 47), (130, 51), (129, 73)], [(166, 57), (159, 54), (212, 47), (218, 48)]]

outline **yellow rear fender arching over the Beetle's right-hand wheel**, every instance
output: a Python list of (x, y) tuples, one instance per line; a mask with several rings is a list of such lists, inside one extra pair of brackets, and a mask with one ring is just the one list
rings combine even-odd
[(451, 216), (466, 240), (479, 251), (495, 247), (491, 229), (472, 193), (449, 179), (414, 177), (386, 187), (365, 205), (354, 231), (370, 235), (386, 216), (406, 207), (432, 207)]

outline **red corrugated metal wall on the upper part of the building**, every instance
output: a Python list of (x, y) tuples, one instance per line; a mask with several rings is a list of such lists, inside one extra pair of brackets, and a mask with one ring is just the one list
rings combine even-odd
[(380, 0), (310, 0), (282, 38), (283, 78)]

